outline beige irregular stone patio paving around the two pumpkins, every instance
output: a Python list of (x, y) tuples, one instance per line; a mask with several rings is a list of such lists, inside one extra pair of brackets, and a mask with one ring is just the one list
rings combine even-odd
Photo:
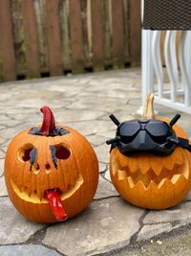
[[(139, 69), (0, 84), (0, 255), (125, 255), (135, 244), (189, 227), (191, 195), (172, 209), (149, 211), (121, 199), (111, 183), (105, 141), (114, 137), (116, 127), (108, 116), (135, 118), (140, 98)], [(41, 123), (42, 105), (53, 109), (57, 123), (85, 135), (99, 160), (99, 184), (91, 205), (74, 219), (52, 225), (25, 220), (12, 206), (4, 183), (11, 138)], [(156, 108), (163, 116), (176, 113)], [(190, 134), (191, 118), (183, 114), (183, 119), (186, 123), (180, 125)]]

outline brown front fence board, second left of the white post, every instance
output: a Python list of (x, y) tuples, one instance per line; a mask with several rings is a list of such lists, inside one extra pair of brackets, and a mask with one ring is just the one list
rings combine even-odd
[(124, 65), (124, 8), (123, 0), (112, 0), (113, 58), (115, 65)]

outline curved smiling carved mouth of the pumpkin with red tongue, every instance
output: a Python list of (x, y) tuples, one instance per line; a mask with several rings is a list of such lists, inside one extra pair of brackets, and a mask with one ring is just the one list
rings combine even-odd
[[(56, 190), (59, 191), (61, 200), (64, 200), (66, 198), (70, 198), (83, 184), (84, 179), (82, 175), (78, 175), (78, 178), (75, 181), (75, 184), (73, 187), (71, 187), (67, 192), (62, 192), (60, 188), (47, 188), (44, 191), (44, 194), (48, 190)], [(48, 203), (48, 200), (46, 198), (39, 198), (36, 191), (33, 191), (30, 195), (27, 188), (21, 188), (19, 189), (18, 186), (11, 180), (11, 186), (14, 191), (14, 193), (21, 199), (32, 202), (32, 203)]]

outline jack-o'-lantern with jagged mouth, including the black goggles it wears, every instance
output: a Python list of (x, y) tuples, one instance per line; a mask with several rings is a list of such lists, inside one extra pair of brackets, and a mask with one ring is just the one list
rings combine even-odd
[(178, 204), (190, 190), (191, 146), (186, 133), (174, 125), (179, 115), (171, 122), (154, 117), (153, 99), (150, 94), (142, 120), (120, 124), (112, 116), (117, 137), (107, 141), (112, 144), (110, 175), (125, 200), (165, 209)]

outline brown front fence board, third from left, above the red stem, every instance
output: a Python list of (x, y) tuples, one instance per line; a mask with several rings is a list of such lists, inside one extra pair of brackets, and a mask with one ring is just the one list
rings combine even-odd
[[(24, 0), (25, 1), (25, 0)], [(62, 71), (61, 31), (59, 26), (59, 0), (46, 1), (46, 24), (48, 34), (49, 65), (52, 76), (60, 76)]]

